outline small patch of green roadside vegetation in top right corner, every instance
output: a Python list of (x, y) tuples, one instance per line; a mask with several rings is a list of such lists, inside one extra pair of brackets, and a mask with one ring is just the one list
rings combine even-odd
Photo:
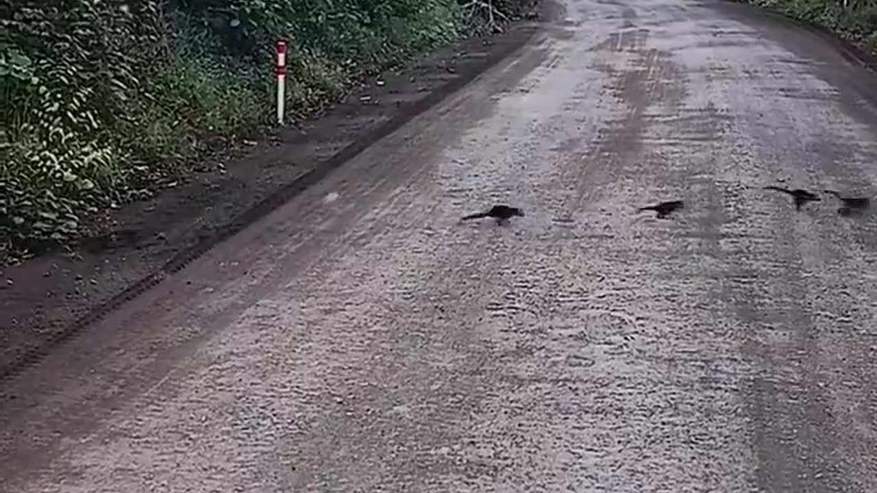
[(819, 25), (877, 56), (877, 0), (744, 0)]

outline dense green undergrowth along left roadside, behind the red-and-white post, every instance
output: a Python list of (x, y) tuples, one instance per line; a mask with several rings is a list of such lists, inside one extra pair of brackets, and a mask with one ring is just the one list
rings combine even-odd
[(205, 153), (274, 118), (287, 40), (289, 120), (520, 2), (0, 0), (0, 264), (88, 234)]

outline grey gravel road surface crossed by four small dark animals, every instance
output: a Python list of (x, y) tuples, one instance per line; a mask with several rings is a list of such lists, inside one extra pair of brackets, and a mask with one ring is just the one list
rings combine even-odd
[(877, 218), (760, 189), (877, 194), (877, 83), (753, 12), (565, 0), (6, 384), (3, 490), (877, 491)]

